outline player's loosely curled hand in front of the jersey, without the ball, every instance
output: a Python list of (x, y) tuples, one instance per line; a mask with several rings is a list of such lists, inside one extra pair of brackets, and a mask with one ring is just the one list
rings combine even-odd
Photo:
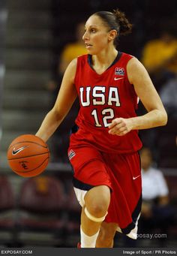
[(109, 134), (123, 136), (132, 130), (131, 119), (115, 118), (108, 127), (110, 130)]

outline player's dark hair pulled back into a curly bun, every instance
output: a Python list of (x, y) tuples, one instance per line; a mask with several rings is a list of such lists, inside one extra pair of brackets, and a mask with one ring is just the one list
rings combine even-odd
[[(110, 11), (98, 11), (93, 15), (100, 17), (110, 30), (115, 29), (119, 35), (127, 35), (131, 32), (132, 24), (129, 23), (125, 14), (119, 9)], [(114, 44), (118, 44), (118, 36), (115, 38)]]

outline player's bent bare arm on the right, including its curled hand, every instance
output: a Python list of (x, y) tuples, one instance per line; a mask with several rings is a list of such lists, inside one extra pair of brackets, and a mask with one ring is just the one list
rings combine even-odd
[(154, 128), (166, 125), (167, 114), (145, 67), (138, 59), (132, 58), (127, 63), (127, 77), (133, 84), (136, 95), (147, 113), (129, 119), (116, 118), (110, 125), (110, 134), (122, 136), (131, 130)]

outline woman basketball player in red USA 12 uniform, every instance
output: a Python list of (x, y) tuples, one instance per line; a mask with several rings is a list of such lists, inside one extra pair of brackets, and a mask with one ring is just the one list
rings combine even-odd
[[(79, 96), (68, 157), (83, 207), (83, 248), (113, 247), (116, 230), (136, 239), (142, 191), (138, 130), (167, 122), (143, 65), (116, 49), (119, 35), (130, 30), (131, 24), (118, 10), (89, 17), (83, 35), (89, 54), (68, 65), (55, 105), (36, 134), (48, 140)], [(143, 116), (136, 116), (138, 98), (147, 110)]]

